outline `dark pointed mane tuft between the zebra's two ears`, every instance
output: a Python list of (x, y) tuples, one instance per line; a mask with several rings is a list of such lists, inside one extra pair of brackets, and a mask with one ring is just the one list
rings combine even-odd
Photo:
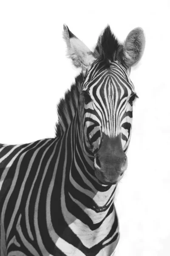
[(105, 64), (109, 67), (111, 62), (118, 59), (121, 49), (122, 45), (119, 44), (119, 41), (111, 32), (111, 28), (108, 25), (99, 36), (98, 42), (94, 49), (94, 54), (100, 55)]

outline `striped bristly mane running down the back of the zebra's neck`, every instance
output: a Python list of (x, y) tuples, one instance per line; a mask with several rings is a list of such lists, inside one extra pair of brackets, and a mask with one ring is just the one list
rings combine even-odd
[(84, 77), (81, 74), (75, 78), (75, 83), (66, 91), (64, 98), (57, 105), (58, 122), (56, 123), (56, 137), (60, 137), (69, 127), (77, 111), (77, 102)]

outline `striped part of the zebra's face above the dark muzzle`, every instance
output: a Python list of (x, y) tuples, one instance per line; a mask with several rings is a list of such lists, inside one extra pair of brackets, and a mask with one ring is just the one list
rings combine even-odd
[(87, 154), (90, 153), (91, 145), (86, 139), (86, 134), (93, 142), (94, 152), (100, 145), (101, 134), (105, 133), (109, 137), (121, 134), (122, 146), (126, 151), (130, 141), (133, 111), (129, 101), (131, 95), (136, 95), (127, 70), (119, 61), (111, 63), (108, 70), (105, 68), (105, 63), (97, 60), (85, 79), (82, 91), (87, 90), (91, 101), (85, 104), (82, 122), (84, 150)]

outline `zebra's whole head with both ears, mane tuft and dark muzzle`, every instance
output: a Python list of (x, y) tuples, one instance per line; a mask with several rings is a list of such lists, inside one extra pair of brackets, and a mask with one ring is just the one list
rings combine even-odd
[(84, 76), (77, 107), (83, 150), (94, 159), (99, 182), (116, 184), (127, 169), (125, 152), (138, 97), (129, 74), (142, 57), (143, 30), (133, 29), (120, 44), (107, 26), (93, 52), (66, 25), (63, 35), (68, 56)]

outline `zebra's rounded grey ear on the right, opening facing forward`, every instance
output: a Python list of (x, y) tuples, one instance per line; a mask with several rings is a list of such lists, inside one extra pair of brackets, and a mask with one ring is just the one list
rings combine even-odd
[(127, 67), (136, 64), (144, 51), (144, 32), (142, 28), (133, 29), (128, 35), (123, 47), (123, 58)]

